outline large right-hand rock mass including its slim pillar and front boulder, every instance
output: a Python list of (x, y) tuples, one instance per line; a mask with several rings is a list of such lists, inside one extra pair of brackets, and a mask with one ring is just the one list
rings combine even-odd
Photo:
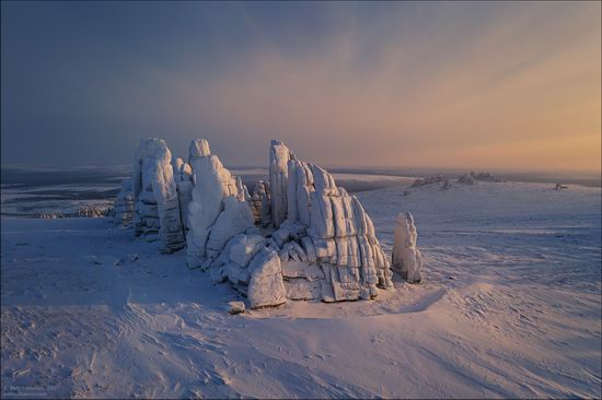
[[(193, 169), (196, 174), (196, 165)], [(239, 216), (241, 224), (229, 232), (239, 234), (211, 258), (215, 282), (230, 281), (253, 308), (277, 306), (286, 298), (368, 299), (378, 287), (393, 286), (389, 260), (356, 197), (337, 187), (323, 168), (296, 160), (280, 141), (271, 142), (269, 170), (269, 187), (256, 188), (250, 201), (255, 209), (251, 221), (259, 226), (248, 224), (243, 232), (247, 222)], [(197, 176), (197, 186), (201, 180)], [(266, 214), (271, 214), (273, 226), (266, 227)], [(233, 225), (231, 220), (228, 226)]]

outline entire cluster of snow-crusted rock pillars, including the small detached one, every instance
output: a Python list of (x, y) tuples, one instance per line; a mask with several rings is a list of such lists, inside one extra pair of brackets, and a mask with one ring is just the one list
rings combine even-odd
[(172, 158), (165, 141), (141, 140), (115, 223), (160, 240), (162, 252), (185, 248), (189, 268), (230, 282), (252, 308), (374, 298), (393, 287), (392, 268), (421, 280), (412, 214), (397, 216), (390, 262), (359, 200), (279, 140), (270, 143), (269, 181), (252, 192), (204, 139), (192, 141), (187, 163)]

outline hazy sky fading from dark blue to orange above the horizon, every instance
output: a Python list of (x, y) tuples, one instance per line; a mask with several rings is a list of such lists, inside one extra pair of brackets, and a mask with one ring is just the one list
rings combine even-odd
[(600, 2), (1, 3), (2, 163), (601, 168)]

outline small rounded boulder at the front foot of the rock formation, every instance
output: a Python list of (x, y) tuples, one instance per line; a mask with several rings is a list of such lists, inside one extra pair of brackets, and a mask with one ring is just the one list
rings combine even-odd
[(248, 266), (251, 281), (247, 297), (251, 308), (275, 307), (287, 302), (282, 268), (278, 254), (263, 249)]

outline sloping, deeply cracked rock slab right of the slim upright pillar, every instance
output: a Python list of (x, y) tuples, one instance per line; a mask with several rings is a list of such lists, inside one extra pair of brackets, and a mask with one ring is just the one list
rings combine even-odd
[(289, 260), (315, 259), (325, 275), (322, 299), (371, 298), (377, 286), (392, 287), (389, 260), (359, 200), (316, 165), (291, 160), (288, 173), (287, 223), (306, 232), (298, 230), (299, 238), (293, 237), (304, 255), (289, 251)]

